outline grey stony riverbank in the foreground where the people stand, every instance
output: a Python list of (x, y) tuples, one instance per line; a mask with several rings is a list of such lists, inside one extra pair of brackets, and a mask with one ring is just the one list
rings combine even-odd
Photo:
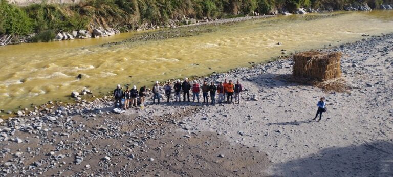
[[(48, 105), (2, 122), (0, 168), (9, 175), (391, 176), (392, 42), (387, 34), (325, 49), (344, 53), (346, 93), (289, 81), (292, 61), (282, 59), (205, 78), (241, 80), (240, 105), (171, 102), (122, 114), (111, 113), (109, 97)], [(322, 96), (329, 111), (310, 121)]]

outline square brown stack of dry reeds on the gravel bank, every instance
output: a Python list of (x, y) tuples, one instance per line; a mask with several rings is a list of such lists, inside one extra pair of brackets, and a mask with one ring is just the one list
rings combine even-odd
[(308, 51), (294, 55), (293, 75), (318, 81), (341, 77), (340, 52)]

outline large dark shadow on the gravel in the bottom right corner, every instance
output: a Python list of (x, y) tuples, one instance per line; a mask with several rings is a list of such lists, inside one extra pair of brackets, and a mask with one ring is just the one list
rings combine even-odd
[(393, 176), (393, 140), (322, 149), (274, 171), (275, 176)]

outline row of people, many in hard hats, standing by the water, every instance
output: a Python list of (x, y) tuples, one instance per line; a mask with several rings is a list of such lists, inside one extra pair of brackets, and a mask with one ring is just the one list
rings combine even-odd
[[(144, 106), (146, 103), (146, 95), (147, 95), (147, 87), (143, 86), (140, 88), (140, 90), (137, 90), (137, 86), (134, 85), (132, 89), (129, 89), (129, 87), (126, 87), (126, 90), (123, 91), (120, 84), (117, 85), (117, 88), (114, 90), (113, 95), (115, 97), (115, 107), (119, 105), (120, 108), (122, 108), (122, 99), (124, 99), (124, 109), (129, 109), (129, 107), (137, 107), (138, 104), (138, 96), (140, 98), (140, 104), (141, 106)], [(236, 81), (236, 84), (232, 83), (232, 80), (229, 80), (227, 82), (227, 79), (224, 80), (224, 82), (220, 82), (218, 85), (215, 84), (215, 82), (211, 82), (210, 84), (207, 83), (207, 81), (203, 81), (203, 85), (200, 86), (200, 84), (197, 81), (194, 81), (193, 84), (191, 84), (188, 81), (188, 78), (184, 78), (183, 83), (178, 79), (177, 82), (173, 85), (171, 85), (170, 82), (167, 82), (165, 86), (161, 86), (158, 81), (156, 81), (155, 85), (152, 87), (151, 91), (153, 93), (153, 104), (156, 103), (160, 104), (160, 100), (162, 98), (162, 91), (164, 91), (167, 102), (169, 102), (169, 99), (172, 95), (172, 90), (174, 90), (174, 98), (175, 102), (180, 102), (181, 101), (181, 92), (183, 91), (183, 102), (188, 101), (190, 102), (190, 91), (192, 92), (192, 98), (193, 102), (199, 101), (199, 94), (202, 91), (203, 95), (203, 103), (208, 104), (209, 103), (209, 95), (210, 95), (210, 100), (211, 100), (211, 105), (215, 105), (216, 101), (216, 95), (218, 95), (218, 102), (219, 103), (233, 103), (233, 97), (235, 98), (235, 102), (237, 104), (240, 103), (241, 100), (241, 93), (243, 91), (242, 84), (239, 83), (239, 81)], [(225, 101), (225, 97), (227, 100)]]

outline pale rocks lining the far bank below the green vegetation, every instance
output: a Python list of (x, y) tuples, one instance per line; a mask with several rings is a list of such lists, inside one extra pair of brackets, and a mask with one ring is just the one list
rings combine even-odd
[[(391, 10), (393, 5), (381, 5), (379, 9), (381, 10)], [(351, 4), (344, 7), (345, 11), (371, 11), (367, 3), (363, 4)], [(307, 14), (307, 13), (323, 13), (323, 12), (331, 12), (333, 9), (311, 9), (311, 8), (299, 8), (294, 11), (294, 14)], [(170, 19), (165, 25), (159, 26), (152, 23), (143, 23), (138, 26), (136, 29), (116, 29), (111, 27), (94, 27), (90, 26), (91, 30), (79, 29), (72, 31), (59, 31), (54, 36), (53, 41), (61, 41), (61, 40), (73, 40), (73, 39), (86, 39), (86, 38), (99, 38), (99, 37), (107, 37), (113, 36), (115, 34), (119, 34), (121, 32), (129, 32), (129, 31), (145, 31), (145, 30), (155, 30), (155, 29), (173, 29), (179, 27), (190, 27), (190, 26), (201, 26), (201, 25), (219, 25), (219, 24), (227, 24), (227, 23), (235, 23), (238, 21), (250, 20), (250, 19), (258, 19), (258, 18), (267, 18), (273, 17), (276, 15), (292, 15), (286, 10), (281, 9), (280, 11), (276, 10), (272, 12), (272, 14), (258, 14), (254, 12), (251, 16), (243, 16), (243, 17), (235, 17), (235, 18), (221, 18), (221, 19), (210, 19), (205, 17), (204, 19), (194, 19), (183, 16), (181, 19)], [(9, 34), (0, 35), (0, 46), (5, 45), (15, 45), (18, 43), (26, 43), (32, 42), (31, 39), (37, 34), (29, 34), (26, 36), (17, 36), (13, 37)], [(17, 39), (16, 39), (17, 38)], [(40, 42), (40, 41), (38, 41)]]

